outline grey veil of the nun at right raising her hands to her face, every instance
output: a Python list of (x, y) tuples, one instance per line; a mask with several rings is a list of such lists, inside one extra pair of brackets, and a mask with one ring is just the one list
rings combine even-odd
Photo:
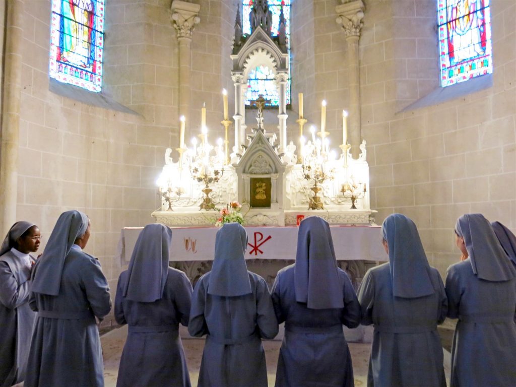
[(489, 221), (482, 214), (465, 214), (457, 219), (455, 231), (464, 238), (467, 255), (476, 276), (486, 281), (508, 281), (516, 269), (507, 260)]

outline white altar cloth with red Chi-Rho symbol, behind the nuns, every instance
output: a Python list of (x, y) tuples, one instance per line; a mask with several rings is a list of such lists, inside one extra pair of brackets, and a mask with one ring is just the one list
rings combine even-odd
[[(129, 262), (141, 227), (123, 228), (119, 241), (121, 262)], [(170, 261), (212, 261), (217, 228), (172, 228)], [(338, 261), (387, 261), (381, 227), (330, 226)], [(246, 259), (295, 260), (297, 227), (246, 227)]]

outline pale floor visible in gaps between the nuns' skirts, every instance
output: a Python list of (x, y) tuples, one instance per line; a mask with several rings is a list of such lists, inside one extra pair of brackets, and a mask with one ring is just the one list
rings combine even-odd
[[(118, 365), (122, 348), (127, 336), (127, 326), (114, 329), (102, 336), (102, 348), (104, 351), (104, 376), (105, 387), (115, 387), (117, 384)], [(281, 341), (264, 341), (265, 358), (267, 359), (267, 372), (269, 386), (274, 385), (276, 377), (276, 365)], [(183, 339), (190, 379), (193, 387), (197, 387), (199, 367), (201, 365), (204, 339)], [(367, 365), (369, 361), (370, 344), (349, 343), (351, 358), (353, 359), (353, 375), (357, 387), (367, 385)], [(445, 372), (449, 380), (449, 353), (445, 351)], [(159, 386), (156, 386), (159, 387)]]

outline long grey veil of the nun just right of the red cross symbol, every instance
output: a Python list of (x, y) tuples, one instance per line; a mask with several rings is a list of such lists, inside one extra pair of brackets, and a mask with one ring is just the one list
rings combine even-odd
[(294, 288), (296, 301), (309, 309), (344, 308), (330, 225), (318, 216), (299, 224)]

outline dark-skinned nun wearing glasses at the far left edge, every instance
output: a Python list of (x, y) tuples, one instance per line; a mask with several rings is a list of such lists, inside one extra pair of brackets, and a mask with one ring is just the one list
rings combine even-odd
[(0, 247), (0, 386), (25, 378), (35, 313), (30, 309), (30, 271), (41, 233), (37, 225), (16, 222)]

